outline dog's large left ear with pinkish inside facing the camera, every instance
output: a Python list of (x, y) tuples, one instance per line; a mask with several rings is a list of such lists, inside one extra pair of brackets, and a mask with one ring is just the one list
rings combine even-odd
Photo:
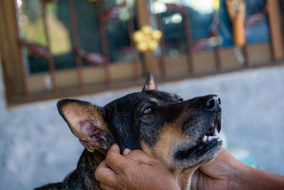
[(58, 102), (58, 111), (89, 152), (97, 150), (104, 154), (114, 144), (101, 107), (80, 100), (64, 99)]

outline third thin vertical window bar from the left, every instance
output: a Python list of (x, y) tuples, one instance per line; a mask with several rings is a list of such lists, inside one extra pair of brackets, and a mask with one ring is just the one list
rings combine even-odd
[(101, 1), (95, 2), (96, 10), (97, 10), (97, 19), (99, 23), (99, 36), (101, 37), (101, 45), (102, 45), (102, 54), (106, 60), (104, 61), (104, 74), (106, 77), (106, 83), (111, 83), (111, 75), (109, 70), (109, 46), (107, 44), (107, 33), (104, 29), (104, 23), (101, 20), (102, 16), (102, 3)]

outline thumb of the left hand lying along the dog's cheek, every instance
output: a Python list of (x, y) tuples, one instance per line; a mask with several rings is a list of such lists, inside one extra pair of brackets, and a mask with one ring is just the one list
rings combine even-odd
[(153, 162), (158, 162), (158, 159), (155, 159), (151, 155), (147, 154), (146, 152), (142, 152), (141, 150), (134, 149), (134, 150), (126, 150), (125, 157), (129, 159), (133, 159), (137, 162), (141, 162), (143, 164), (151, 164)]

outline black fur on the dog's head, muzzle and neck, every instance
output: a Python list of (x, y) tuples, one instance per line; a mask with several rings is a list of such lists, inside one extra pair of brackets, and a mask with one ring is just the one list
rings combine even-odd
[[(171, 124), (173, 127), (180, 127), (182, 133), (190, 137), (190, 142), (176, 148), (177, 153), (173, 152), (175, 157), (177, 154), (183, 155), (184, 149), (194, 147), (207, 132), (210, 124), (215, 120), (217, 122), (221, 120), (219, 105), (214, 111), (206, 110), (209, 97), (214, 95), (195, 97), (182, 102), (178, 95), (147, 89), (145, 86), (143, 89), (140, 93), (126, 95), (102, 108), (96, 107), (99, 110), (99, 117), (103, 118), (107, 131), (110, 133), (98, 135), (104, 135), (104, 137), (109, 135), (107, 137), (111, 142), (109, 147), (114, 142), (119, 144), (121, 152), (126, 148), (142, 149), (141, 142), (148, 147), (153, 147), (158, 142), (160, 132), (164, 130), (165, 125)], [(84, 109), (88, 109), (90, 104), (79, 100), (60, 100), (58, 110), (71, 128), (70, 121), (62, 111), (64, 105), (70, 102)], [(151, 108), (151, 112), (145, 113), (147, 108)], [(220, 146), (220, 143), (218, 145)], [(88, 152), (84, 149), (77, 168), (62, 183), (49, 184), (38, 189), (100, 189), (99, 182), (94, 178), (94, 171), (99, 162), (104, 159), (106, 152), (107, 149), (104, 149), (104, 152), (96, 150)], [(192, 156), (194, 159), (192, 163), (200, 163), (200, 157), (202, 156)], [(185, 164), (183, 162), (185, 161), (178, 158), (175, 164)], [(186, 164), (188, 165), (187, 161)]]

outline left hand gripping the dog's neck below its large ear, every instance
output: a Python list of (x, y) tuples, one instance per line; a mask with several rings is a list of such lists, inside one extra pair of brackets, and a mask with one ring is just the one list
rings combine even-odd
[(140, 150), (125, 149), (124, 155), (119, 152), (114, 144), (95, 171), (102, 189), (180, 189), (173, 174), (158, 159)]

